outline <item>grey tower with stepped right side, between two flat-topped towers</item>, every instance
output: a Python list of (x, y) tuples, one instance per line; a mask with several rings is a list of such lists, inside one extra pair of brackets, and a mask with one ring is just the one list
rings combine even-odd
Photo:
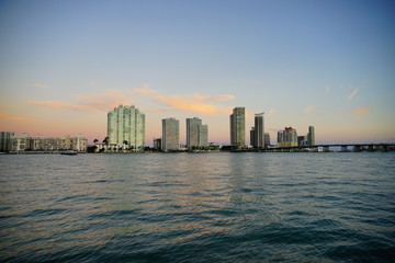
[(187, 118), (187, 148), (192, 150), (194, 147), (208, 146), (208, 127), (202, 124), (202, 119)]

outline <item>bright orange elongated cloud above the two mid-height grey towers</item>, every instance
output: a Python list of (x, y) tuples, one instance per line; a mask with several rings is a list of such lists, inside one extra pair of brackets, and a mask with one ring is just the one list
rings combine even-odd
[(230, 100), (234, 99), (233, 95), (217, 95), (217, 96), (204, 96), (199, 94), (193, 95), (167, 95), (167, 96), (156, 96), (155, 100), (167, 106), (185, 111), (185, 112), (195, 112), (206, 115), (224, 115), (232, 112), (232, 107), (226, 107), (222, 105), (212, 104), (210, 102), (221, 101), (221, 100)]

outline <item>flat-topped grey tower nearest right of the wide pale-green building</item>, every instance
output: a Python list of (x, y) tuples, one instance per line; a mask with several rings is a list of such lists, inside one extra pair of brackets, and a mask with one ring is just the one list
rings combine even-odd
[(180, 125), (176, 118), (162, 119), (162, 151), (179, 150)]

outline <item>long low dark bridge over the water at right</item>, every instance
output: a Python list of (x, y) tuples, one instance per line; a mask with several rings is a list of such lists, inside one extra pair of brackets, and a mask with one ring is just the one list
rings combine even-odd
[(271, 148), (252, 148), (238, 149), (233, 151), (250, 151), (250, 152), (330, 152), (331, 148), (340, 148), (341, 152), (361, 152), (361, 151), (395, 151), (395, 144), (328, 144), (314, 146), (290, 146), (290, 147), (271, 147)]

